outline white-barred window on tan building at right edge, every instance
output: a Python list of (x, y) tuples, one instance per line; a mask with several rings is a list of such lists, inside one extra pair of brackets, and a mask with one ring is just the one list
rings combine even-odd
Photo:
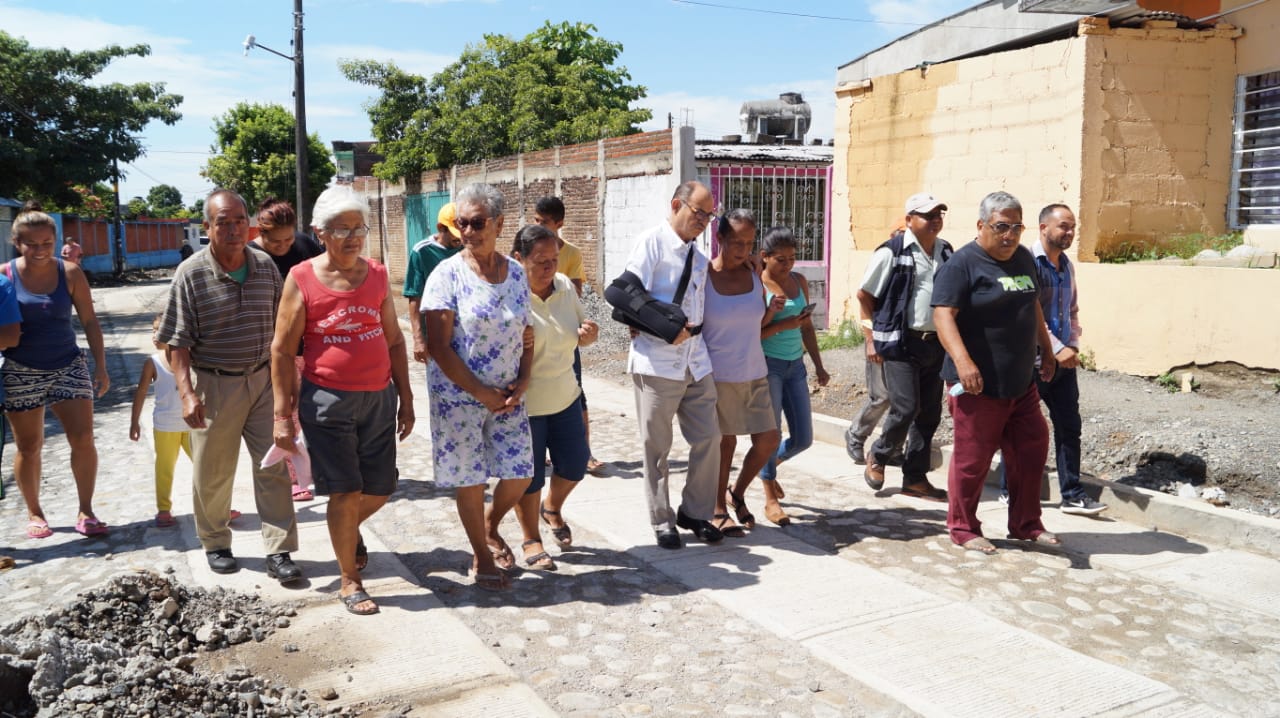
[(1280, 70), (1242, 76), (1235, 91), (1230, 224), (1280, 224)]

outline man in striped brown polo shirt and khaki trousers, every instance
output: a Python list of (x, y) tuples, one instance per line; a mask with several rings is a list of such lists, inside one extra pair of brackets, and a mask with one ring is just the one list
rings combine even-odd
[(209, 568), (233, 573), (228, 516), (241, 439), (253, 465), (266, 572), (282, 584), (302, 577), (289, 476), (283, 463), (261, 468), (271, 447), (269, 360), (282, 280), (271, 259), (248, 246), (244, 200), (215, 189), (205, 200), (209, 246), (178, 266), (156, 339), (170, 363), (191, 426), (196, 534)]

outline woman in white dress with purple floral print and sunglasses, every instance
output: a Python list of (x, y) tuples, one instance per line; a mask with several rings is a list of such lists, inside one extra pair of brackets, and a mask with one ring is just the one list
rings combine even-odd
[(498, 252), (502, 192), (468, 184), (456, 198), (462, 251), (426, 280), (422, 314), (436, 486), (457, 488), (458, 517), (475, 558), (476, 586), (500, 591), (516, 558), (485, 517), (485, 486), (498, 477), (489, 516), (500, 520), (534, 475), (525, 390), (534, 360), (529, 285), (520, 262)]

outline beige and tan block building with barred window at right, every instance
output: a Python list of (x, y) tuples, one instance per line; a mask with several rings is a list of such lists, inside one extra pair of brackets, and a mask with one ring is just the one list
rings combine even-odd
[(1280, 367), (1280, 269), (1096, 264), (1116, 243), (1229, 229), (1280, 248), (1280, 1), (1094, 4), (980, 3), (840, 69), (833, 320), (856, 314), (869, 251), (909, 195), (946, 201), (942, 235), (961, 244), (982, 197), (1005, 189), (1028, 224), (1050, 202), (1075, 207), (1100, 367)]

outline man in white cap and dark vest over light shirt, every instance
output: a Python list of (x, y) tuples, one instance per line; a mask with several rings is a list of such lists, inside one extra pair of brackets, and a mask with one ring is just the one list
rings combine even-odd
[(947, 500), (947, 493), (929, 484), (927, 474), (933, 433), (942, 420), (940, 371), (946, 352), (933, 325), (932, 296), (933, 275), (952, 251), (938, 238), (946, 211), (933, 195), (911, 195), (905, 230), (876, 250), (858, 291), (863, 316), (872, 317), (872, 328), (863, 328), (867, 361), (883, 365), (890, 401), (863, 477), (879, 490), (884, 465), (902, 452), (902, 494), (937, 502)]

